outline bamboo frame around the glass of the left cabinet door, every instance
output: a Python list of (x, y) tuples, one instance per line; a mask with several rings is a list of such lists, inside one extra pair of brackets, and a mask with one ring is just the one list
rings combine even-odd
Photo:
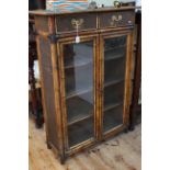
[[(87, 41), (93, 41), (93, 101), (94, 101), (94, 106), (93, 106), (93, 132), (94, 132), (94, 140), (98, 136), (98, 91), (97, 91), (97, 66), (98, 66), (98, 49), (97, 49), (97, 35), (94, 36), (86, 36), (82, 37), (80, 36), (81, 42), (87, 42)], [(81, 43), (80, 42), (80, 43)], [(61, 114), (63, 114), (63, 133), (64, 133), (64, 145), (65, 145), (65, 151), (66, 154), (70, 154), (71, 150), (79, 149), (81, 147), (84, 147), (83, 145), (89, 145), (91, 139), (83, 141), (82, 144), (77, 144), (72, 147), (69, 146), (69, 140), (68, 140), (68, 116), (67, 116), (67, 106), (66, 106), (66, 91), (65, 91), (65, 64), (64, 64), (64, 45), (66, 44), (73, 44), (75, 43), (75, 37), (72, 38), (63, 38), (58, 41), (58, 52), (59, 52), (59, 81), (60, 81), (60, 97), (61, 97)]]

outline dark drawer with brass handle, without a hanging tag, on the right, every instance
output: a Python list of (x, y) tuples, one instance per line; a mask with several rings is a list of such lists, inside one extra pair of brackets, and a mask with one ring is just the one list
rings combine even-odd
[(101, 13), (99, 15), (100, 27), (118, 27), (118, 26), (129, 26), (135, 23), (134, 11), (115, 11)]

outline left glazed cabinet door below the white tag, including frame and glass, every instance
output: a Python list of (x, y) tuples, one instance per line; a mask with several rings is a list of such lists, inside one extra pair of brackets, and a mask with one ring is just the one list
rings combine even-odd
[(95, 53), (97, 36), (63, 39), (61, 56), (63, 120), (66, 150), (95, 139)]

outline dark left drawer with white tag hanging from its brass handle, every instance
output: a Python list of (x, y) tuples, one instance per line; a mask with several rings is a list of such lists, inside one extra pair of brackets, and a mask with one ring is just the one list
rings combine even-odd
[(97, 14), (82, 13), (56, 16), (57, 32), (72, 32), (78, 25), (79, 31), (97, 29)]

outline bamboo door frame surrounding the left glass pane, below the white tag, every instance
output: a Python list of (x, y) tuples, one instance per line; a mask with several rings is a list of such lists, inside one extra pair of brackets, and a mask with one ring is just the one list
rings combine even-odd
[[(99, 94), (98, 94), (98, 77), (97, 77), (97, 66), (98, 66), (98, 46), (99, 46), (99, 36), (98, 34), (93, 35), (80, 35), (81, 42), (93, 42), (93, 100), (94, 100), (94, 107), (93, 107), (93, 132), (94, 136), (93, 138), (90, 138), (88, 140), (84, 140), (80, 144), (77, 144), (72, 147), (69, 147), (68, 143), (68, 122), (67, 122), (67, 107), (66, 107), (66, 89), (65, 89), (65, 68), (64, 68), (64, 45), (66, 44), (75, 44), (76, 43), (76, 36), (69, 36), (58, 39), (57, 42), (57, 50), (58, 50), (58, 70), (59, 70), (59, 81), (60, 81), (60, 99), (61, 99), (61, 126), (63, 126), (63, 133), (64, 133), (64, 146), (65, 146), (65, 152), (66, 155), (75, 154), (79, 150), (82, 150), (83, 148), (87, 148), (91, 145), (93, 145), (98, 140), (98, 120), (99, 120)], [(80, 42), (80, 43), (81, 43)]]

